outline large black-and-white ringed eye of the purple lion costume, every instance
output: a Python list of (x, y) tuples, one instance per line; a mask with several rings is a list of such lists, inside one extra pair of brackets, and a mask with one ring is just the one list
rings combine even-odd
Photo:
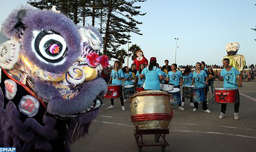
[(65, 39), (52, 31), (33, 31), (31, 42), (36, 56), (45, 63), (62, 64), (68, 50)]

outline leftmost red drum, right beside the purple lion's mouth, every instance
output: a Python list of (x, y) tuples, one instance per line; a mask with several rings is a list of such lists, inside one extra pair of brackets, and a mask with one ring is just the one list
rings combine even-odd
[(104, 98), (118, 98), (122, 95), (121, 85), (108, 85), (108, 92), (104, 95)]

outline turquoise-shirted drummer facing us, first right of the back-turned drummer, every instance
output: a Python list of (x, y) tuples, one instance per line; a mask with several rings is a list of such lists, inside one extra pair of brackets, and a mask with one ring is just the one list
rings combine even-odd
[[(171, 65), (171, 71), (168, 72), (166, 76), (166, 81), (169, 82), (169, 84), (173, 84), (174, 88), (179, 88), (182, 85), (183, 79), (181, 71), (177, 70), (177, 64), (173, 63)], [(183, 106), (181, 106), (181, 103), (179, 103), (179, 109), (184, 110)]]

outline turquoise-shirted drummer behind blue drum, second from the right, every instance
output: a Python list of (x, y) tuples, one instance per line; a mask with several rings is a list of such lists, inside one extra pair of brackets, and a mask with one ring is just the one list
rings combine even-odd
[[(195, 82), (196, 88), (206, 89), (206, 85), (208, 83), (208, 75), (206, 74), (205, 70), (202, 70), (202, 64), (200, 62), (196, 63), (196, 70), (193, 72), (193, 82)], [(205, 79), (206, 78), (206, 79)], [(210, 113), (211, 111), (207, 107), (207, 102), (203, 101), (203, 109), (204, 112)], [(193, 111), (198, 110), (198, 102), (194, 102), (194, 109)]]

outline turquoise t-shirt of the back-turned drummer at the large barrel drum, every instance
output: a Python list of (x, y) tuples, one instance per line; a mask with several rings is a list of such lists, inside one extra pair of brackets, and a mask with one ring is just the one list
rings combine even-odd
[(160, 80), (158, 75), (163, 75), (161, 69), (156, 66), (153, 66), (153, 69), (150, 71), (147, 68), (144, 68), (141, 74), (145, 75), (145, 90), (160, 90)]

